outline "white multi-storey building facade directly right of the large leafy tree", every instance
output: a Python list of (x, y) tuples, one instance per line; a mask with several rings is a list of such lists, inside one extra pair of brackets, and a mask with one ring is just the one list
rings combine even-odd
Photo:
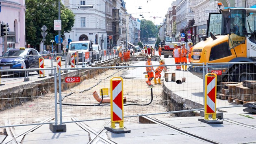
[[(63, 3), (75, 15), (74, 27), (65, 37), (72, 41), (91, 40), (107, 49), (106, 0), (64, 0)], [(82, 8), (92, 4), (93, 8)], [(109, 13), (108, 19), (111, 19)]]

